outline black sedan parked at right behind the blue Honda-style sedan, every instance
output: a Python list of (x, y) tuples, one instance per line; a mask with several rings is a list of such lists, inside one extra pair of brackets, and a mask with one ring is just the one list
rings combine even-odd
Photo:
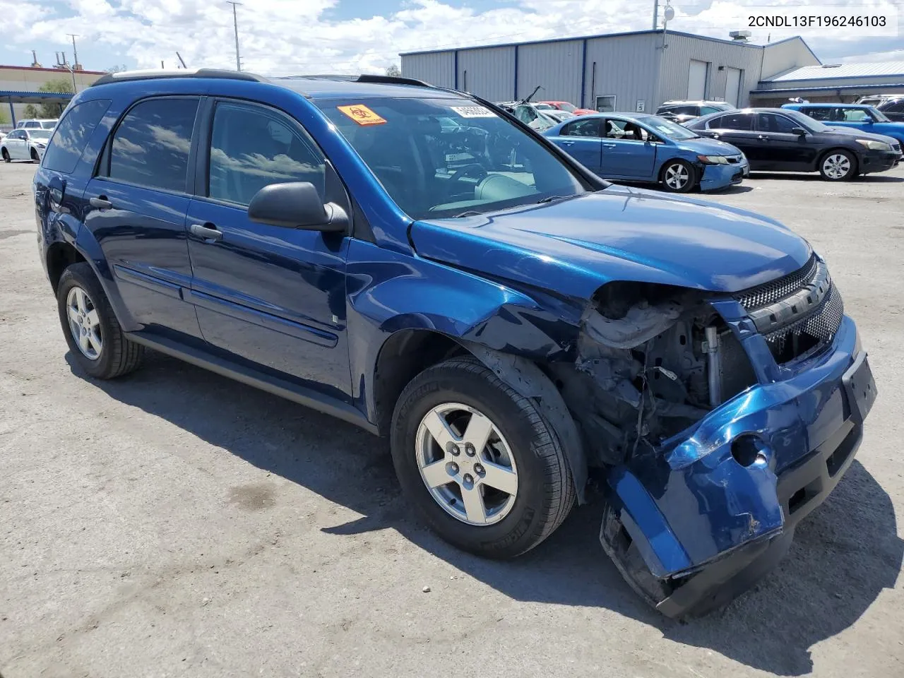
[(685, 127), (737, 146), (753, 171), (819, 172), (846, 181), (898, 165), (901, 149), (890, 137), (826, 127), (787, 108), (744, 108), (695, 118)]

